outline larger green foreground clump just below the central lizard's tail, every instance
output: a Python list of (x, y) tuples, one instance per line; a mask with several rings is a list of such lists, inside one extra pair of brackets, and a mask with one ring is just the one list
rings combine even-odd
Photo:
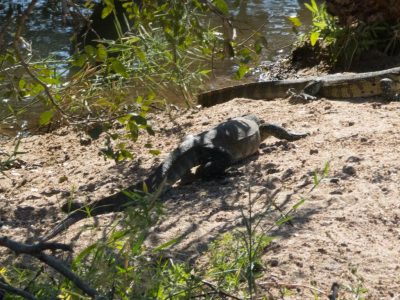
[[(164, 259), (163, 251), (175, 244), (172, 239), (155, 248), (145, 246), (149, 228), (162, 213), (154, 198), (135, 198), (124, 218), (111, 226), (106, 238), (80, 252), (73, 270), (100, 294), (116, 299), (187, 299), (196, 282), (185, 263)], [(61, 298), (82, 296), (65, 280)]]

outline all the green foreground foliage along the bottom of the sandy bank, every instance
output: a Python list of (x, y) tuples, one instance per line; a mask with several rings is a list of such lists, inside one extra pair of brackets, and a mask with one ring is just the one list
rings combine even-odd
[[(321, 184), (328, 173), (328, 163), (316, 170), (310, 191)], [(244, 227), (217, 237), (209, 245), (205, 264), (200, 269), (168, 257), (167, 249), (181, 237), (158, 247), (146, 245), (152, 226), (162, 214), (161, 206), (152, 197), (141, 199), (137, 206), (128, 208), (120, 222), (105, 227), (104, 238), (78, 253), (72, 268), (106, 299), (259, 299), (261, 296), (276, 299), (273, 294), (264, 295), (258, 290), (261, 282), (265, 282), (260, 280), (261, 275), (265, 279), (268, 272), (263, 256), (274, 239), (273, 230), (292, 221), (305, 200), (301, 198), (287, 212), (282, 212), (274, 199), (267, 197), (264, 211), (260, 213), (257, 209), (254, 214), (254, 203), (259, 195), (253, 196), (250, 187), (248, 195), (247, 210), (242, 211)], [(267, 221), (270, 225), (266, 226), (262, 221), (265, 221), (264, 216), (271, 218), (272, 210), (278, 212), (278, 217)], [(348, 284), (340, 284), (340, 289), (352, 298), (364, 299), (367, 293), (364, 281), (355, 266), (350, 271), (353, 279)], [(71, 281), (36, 265), (1, 268), (1, 280), (39, 299), (88, 299)], [(311, 290), (314, 299), (320, 299), (321, 291), (314, 285), (303, 287)], [(298, 286), (274, 282), (273, 287), (284, 297), (296, 295), (294, 289)], [(5, 299), (16, 297), (8, 294)]]

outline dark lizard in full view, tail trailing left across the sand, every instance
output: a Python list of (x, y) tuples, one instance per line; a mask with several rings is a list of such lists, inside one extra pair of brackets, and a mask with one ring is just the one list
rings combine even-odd
[(264, 123), (255, 115), (234, 118), (200, 134), (189, 135), (143, 182), (87, 205), (65, 204), (63, 210), (72, 208), (72, 213), (56, 225), (44, 240), (53, 238), (88, 215), (117, 212), (134, 205), (134, 200), (129, 197), (132, 193), (144, 195), (143, 190), (146, 190), (160, 195), (195, 166), (199, 166), (196, 172), (199, 176), (223, 173), (233, 163), (255, 154), (260, 143), (269, 136), (295, 141), (307, 135)]

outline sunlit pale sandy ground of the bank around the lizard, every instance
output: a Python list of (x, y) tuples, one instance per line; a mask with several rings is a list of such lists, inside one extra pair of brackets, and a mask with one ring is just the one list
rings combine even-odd
[[(34, 241), (64, 217), (60, 206), (71, 195), (98, 199), (114, 193), (149, 174), (184, 135), (247, 113), (311, 135), (296, 142), (270, 138), (259, 155), (235, 165), (226, 178), (169, 190), (162, 197), (165, 215), (148, 244), (182, 236), (171, 250), (196, 262), (209, 242), (242, 225), (249, 187), (262, 228), (279, 216), (278, 209), (264, 213), (271, 196), (281, 211), (304, 197), (292, 224), (271, 233), (278, 238), (265, 250), (259, 282), (297, 285), (292, 296), (296, 299), (313, 299), (303, 285), (329, 293), (333, 282), (365, 287), (368, 299), (400, 299), (400, 103), (321, 99), (292, 105), (285, 99), (235, 99), (176, 112), (174, 122), (155, 116), (156, 136), (142, 136), (131, 146), (135, 160), (121, 165), (98, 154), (100, 140), (82, 145), (68, 128), (31, 136), (21, 145), (26, 153), (19, 156), (19, 167), (0, 174), (1, 236)], [(154, 157), (143, 151), (146, 142), (162, 154)], [(9, 151), (12, 141), (0, 146)], [(328, 177), (311, 191), (313, 172), (328, 162)], [(111, 219), (102, 216), (98, 222), (104, 225)], [(80, 234), (87, 223), (92, 221), (75, 224), (57, 240), (74, 241), (81, 248), (98, 236)], [(8, 252), (0, 251), (2, 262), (9, 263)]]

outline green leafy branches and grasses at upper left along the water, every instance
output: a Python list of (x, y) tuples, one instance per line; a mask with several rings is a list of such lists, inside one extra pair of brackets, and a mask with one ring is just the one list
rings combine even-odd
[[(103, 1), (101, 13), (102, 18), (113, 17), (116, 39), (87, 43), (67, 61), (38, 58), (22, 36), (26, 19), (24, 23), (16, 17), (14, 40), (0, 51), (0, 96), (5, 99), (0, 123), (28, 119), (35, 128), (32, 122), (42, 127), (62, 122), (86, 130), (92, 138), (104, 132), (105, 156), (116, 162), (130, 159), (134, 154), (126, 140), (153, 134), (147, 122), (151, 109), (162, 109), (171, 99), (191, 105), (214, 60), (229, 55), (226, 49), (235, 52), (237, 79), (261, 51), (260, 42), (254, 49), (251, 44), (257, 33), (246, 43), (234, 41), (224, 0), (143, 0), (140, 6), (122, 1), (123, 19), (117, 17), (116, 1)], [(85, 2), (87, 8), (94, 4)], [(29, 8), (22, 16), (27, 18), (34, 6)], [(37, 120), (32, 111), (41, 111)], [(124, 130), (115, 130), (120, 127)], [(148, 148), (157, 153), (152, 145)]]

